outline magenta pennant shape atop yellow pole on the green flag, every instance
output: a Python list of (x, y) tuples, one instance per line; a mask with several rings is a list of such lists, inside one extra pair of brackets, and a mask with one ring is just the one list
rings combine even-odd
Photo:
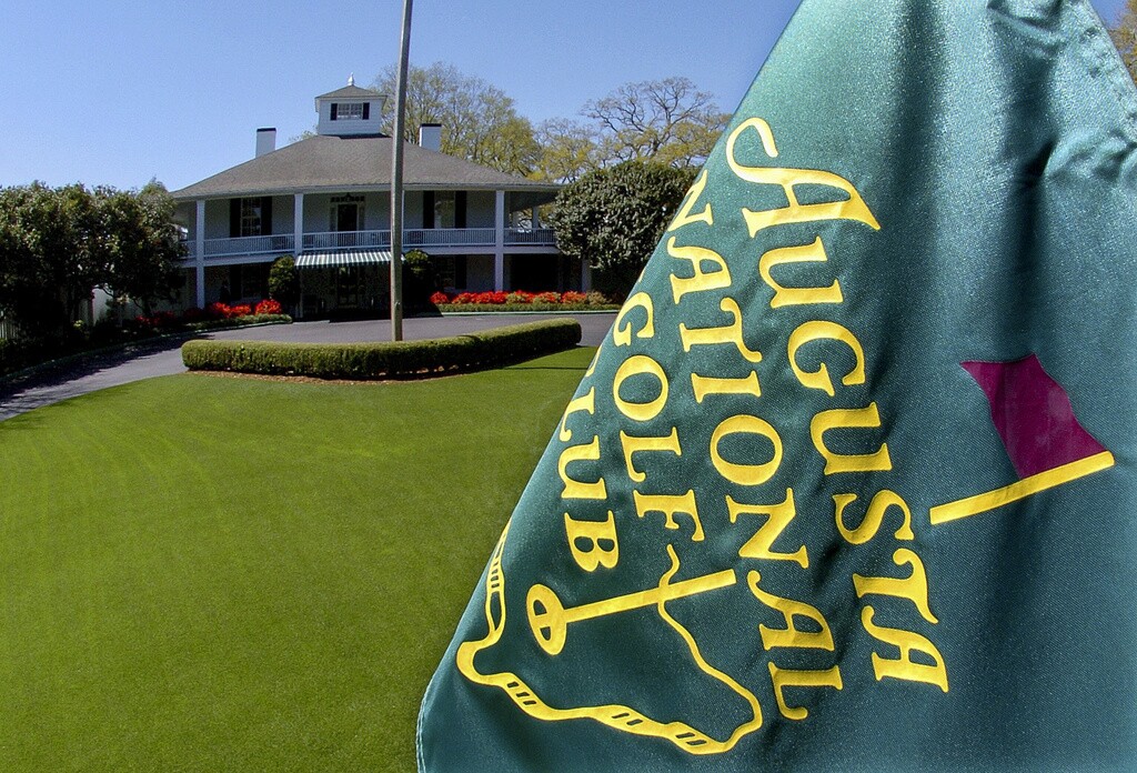
[(991, 421), (1019, 477), (1105, 450), (1078, 423), (1065, 390), (1043, 369), (1037, 356), (961, 365), (987, 394)]

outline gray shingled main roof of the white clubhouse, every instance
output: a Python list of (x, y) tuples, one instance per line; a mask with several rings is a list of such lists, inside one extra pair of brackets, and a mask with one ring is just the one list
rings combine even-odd
[[(349, 86), (350, 88), (350, 86)], [(408, 190), (509, 190), (551, 193), (558, 185), (505, 174), (404, 143)], [(176, 200), (390, 188), (391, 138), (317, 135), (174, 191)]]

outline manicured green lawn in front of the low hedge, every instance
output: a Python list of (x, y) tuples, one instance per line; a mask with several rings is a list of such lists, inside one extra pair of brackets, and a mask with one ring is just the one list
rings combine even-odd
[(186, 374), (0, 423), (0, 770), (413, 771), (426, 681), (592, 351)]

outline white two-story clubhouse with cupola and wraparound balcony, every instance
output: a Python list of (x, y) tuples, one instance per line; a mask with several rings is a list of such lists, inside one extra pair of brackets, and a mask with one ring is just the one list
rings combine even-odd
[[(316, 98), (314, 136), (276, 149), (276, 130), (257, 130), (254, 159), (174, 191), (189, 248), (183, 302), (266, 298), (269, 265), (291, 255), (305, 316), (385, 311), (385, 101), (349, 80)], [(587, 290), (588, 267), (563, 256), (537, 218), (557, 185), (441, 153), (441, 131), (425, 125), (418, 144), (404, 144), (404, 249), (430, 255), (449, 290)]]

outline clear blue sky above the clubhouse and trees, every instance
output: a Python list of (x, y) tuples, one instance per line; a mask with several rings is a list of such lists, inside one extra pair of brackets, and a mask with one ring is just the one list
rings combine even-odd
[[(410, 60), (501, 88), (534, 123), (683, 75), (731, 111), (799, 0), (418, 0)], [(401, 0), (5, 0), (0, 185), (171, 189), (315, 123), (313, 98), (395, 61)], [(1123, 0), (1093, 0), (1113, 20)]]

